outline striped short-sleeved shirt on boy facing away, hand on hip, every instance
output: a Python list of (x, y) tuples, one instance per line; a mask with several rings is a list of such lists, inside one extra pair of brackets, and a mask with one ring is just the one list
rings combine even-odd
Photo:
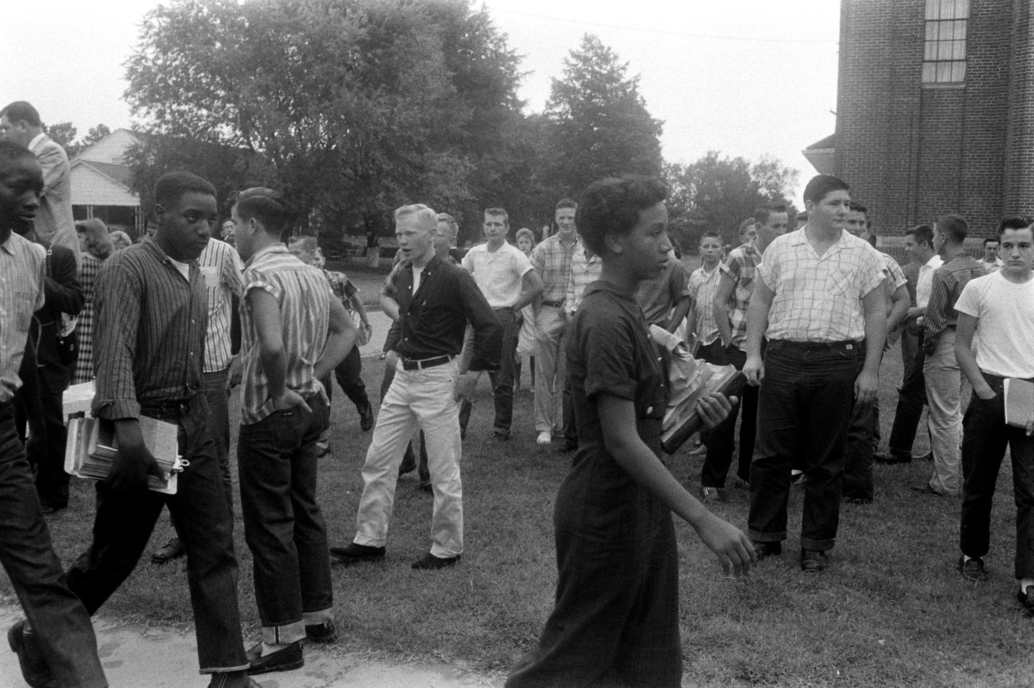
[(312, 375), (330, 331), (330, 300), (334, 298), (323, 271), (292, 256), (282, 243), (267, 246), (244, 266), (244, 297), (241, 299), (241, 353), (244, 379), (241, 384), (241, 422), (257, 423), (273, 413), (269, 376), (262, 367), (258, 331), (248, 303), (248, 294), (261, 289), (280, 305), (280, 326), (287, 359), (286, 386), (308, 398), (326, 393)]

